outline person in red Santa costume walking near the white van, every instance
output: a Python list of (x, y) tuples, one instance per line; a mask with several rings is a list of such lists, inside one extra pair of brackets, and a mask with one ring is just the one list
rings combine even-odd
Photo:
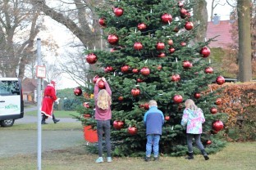
[(47, 124), (45, 122), (45, 119), (48, 117), (53, 119), (54, 123), (57, 123), (60, 121), (60, 119), (55, 119), (55, 116), (53, 114), (53, 105), (54, 102), (59, 102), (60, 98), (57, 98), (56, 96), (56, 91), (54, 85), (48, 84), (47, 87), (44, 89), (44, 95), (43, 95), (43, 102), (42, 102), (42, 109), (41, 109), (41, 114), (42, 114), (42, 124)]

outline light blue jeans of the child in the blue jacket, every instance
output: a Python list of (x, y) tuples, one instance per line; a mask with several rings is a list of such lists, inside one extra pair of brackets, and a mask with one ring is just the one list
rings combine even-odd
[(160, 135), (147, 135), (147, 145), (146, 145), (146, 156), (151, 155), (152, 146), (153, 146), (153, 156), (158, 157), (159, 154), (159, 141)]

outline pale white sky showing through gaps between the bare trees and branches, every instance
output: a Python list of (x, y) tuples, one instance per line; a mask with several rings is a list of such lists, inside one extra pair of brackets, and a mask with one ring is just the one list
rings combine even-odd
[[(211, 9), (212, 0), (206, 0), (206, 1), (208, 2), (207, 8), (209, 12)], [(220, 2), (222, 2), (222, 4), (225, 4), (225, 5), (224, 6), (218, 5), (214, 9), (214, 14), (217, 14), (217, 16), (220, 16), (221, 20), (229, 20), (231, 7), (225, 3), (226, 2), (225, 0), (220, 0)], [(208, 17), (210, 19), (210, 13), (208, 13)], [(56, 21), (46, 18), (46, 24), (48, 25), (48, 29), (50, 31), (48, 31), (45, 34), (48, 34), (48, 36), (53, 37), (53, 39), (57, 42), (58, 46), (60, 47), (60, 49), (58, 50), (59, 56), (62, 56), (62, 53), (65, 52), (62, 49), (67, 48), (66, 43), (71, 41), (73, 39), (73, 36), (67, 34), (69, 30), (67, 30), (65, 26), (58, 24)], [(46, 36), (45, 34), (41, 34), (41, 36), (45, 37)], [(52, 62), (57, 62), (57, 61), (52, 60)], [(57, 84), (57, 89), (74, 88), (78, 86), (78, 84), (76, 84), (75, 81), (67, 77), (68, 77), (67, 74), (62, 75), (61, 81)]]

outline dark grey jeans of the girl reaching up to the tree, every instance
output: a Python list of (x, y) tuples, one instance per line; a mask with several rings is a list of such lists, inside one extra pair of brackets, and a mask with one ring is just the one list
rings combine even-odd
[(97, 120), (98, 156), (99, 157), (103, 157), (103, 133), (106, 141), (107, 157), (111, 157), (110, 120)]

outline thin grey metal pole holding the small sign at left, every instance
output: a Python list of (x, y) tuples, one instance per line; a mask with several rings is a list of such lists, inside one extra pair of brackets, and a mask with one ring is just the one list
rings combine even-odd
[[(38, 65), (42, 65), (41, 60), (41, 39), (37, 38), (37, 62)], [(41, 157), (42, 157), (42, 125), (41, 125), (41, 86), (42, 86), (42, 78), (38, 78), (37, 81), (37, 109), (38, 109), (38, 170), (41, 170)]]

